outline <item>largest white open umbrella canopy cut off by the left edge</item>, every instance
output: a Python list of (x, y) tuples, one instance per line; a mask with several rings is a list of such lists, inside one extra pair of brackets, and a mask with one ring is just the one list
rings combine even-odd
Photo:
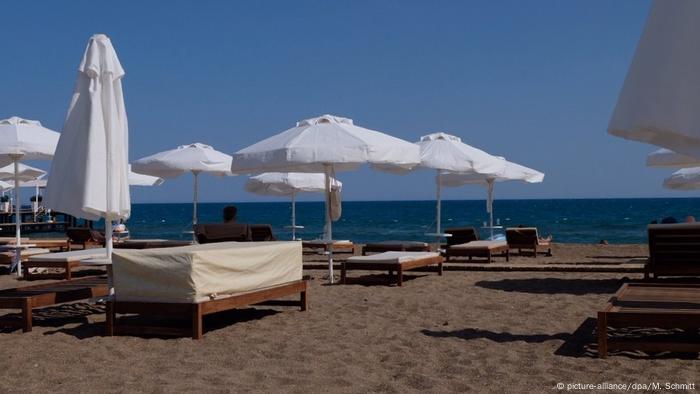
[(16, 116), (0, 120), (0, 165), (12, 163), (10, 156), (20, 156), (20, 160), (51, 159), (59, 137), (36, 120)]

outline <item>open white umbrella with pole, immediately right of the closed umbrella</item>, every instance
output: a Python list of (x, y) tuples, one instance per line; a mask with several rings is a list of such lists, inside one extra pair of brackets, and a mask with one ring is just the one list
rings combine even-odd
[[(192, 203), (192, 225), (194, 226), (197, 224), (199, 174), (231, 175), (231, 156), (197, 142), (138, 159), (131, 163), (131, 168), (140, 174), (160, 178), (175, 178), (191, 173), (194, 177)], [(196, 241), (195, 235), (193, 238)]]

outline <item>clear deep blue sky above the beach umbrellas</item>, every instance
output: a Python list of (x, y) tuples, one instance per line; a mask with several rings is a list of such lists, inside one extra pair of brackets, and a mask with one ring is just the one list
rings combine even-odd
[[(661, 188), (654, 148), (606, 128), (648, 0), (32, 1), (0, 23), (0, 117), (60, 131), (88, 38), (109, 35), (131, 160), (204, 142), (226, 153), (324, 113), (416, 141), (446, 131), (546, 173), (500, 198), (693, 196)], [(47, 168), (46, 163), (37, 163)], [(430, 172), (339, 173), (344, 198), (432, 199)], [(265, 201), (203, 177), (205, 201)], [(135, 202), (191, 200), (185, 176)], [(445, 190), (483, 198), (479, 187)], [(310, 199), (319, 199), (311, 196)]]

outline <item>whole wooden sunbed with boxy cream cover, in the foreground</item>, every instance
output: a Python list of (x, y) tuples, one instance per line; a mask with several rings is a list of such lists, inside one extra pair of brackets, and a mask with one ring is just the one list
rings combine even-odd
[[(226, 242), (168, 249), (117, 249), (106, 334), (202, 337), (203, 316), (298, 294), (306, 310), (299, 242)], [(118, 314), (191, 319), (191, 328), (128, 324)], [(131, 317), (130, 317), (131, 318)]]

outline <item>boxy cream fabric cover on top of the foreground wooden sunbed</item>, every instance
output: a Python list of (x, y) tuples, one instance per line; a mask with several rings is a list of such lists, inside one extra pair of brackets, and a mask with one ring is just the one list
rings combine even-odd
[(115, 249), (119, 301), (197, 303), (301, 280), (300, 242)]

